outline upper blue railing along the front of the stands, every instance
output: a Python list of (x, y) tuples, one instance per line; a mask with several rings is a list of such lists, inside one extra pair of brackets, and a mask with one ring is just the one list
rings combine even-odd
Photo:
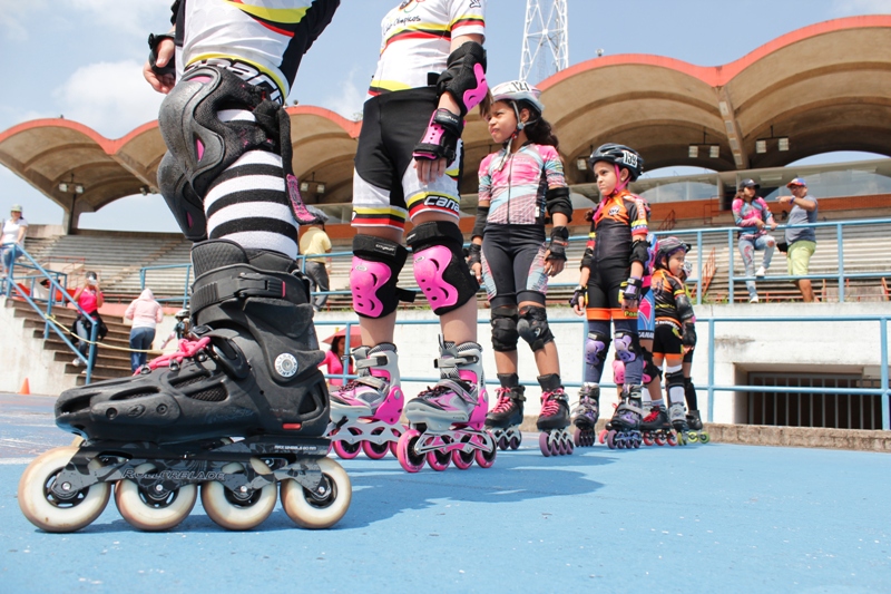
[[(811, 224), (803, 224), (803, 225), (779, 225), (776, 227), (776, 232), (782, 232), (786, 228), (819, 228), (819, 227), (834, 227), (836, 232), (836, 255), (839, 261), (838, 272), (835, 274), (807, 274), (801, 276), (792, 276), (792, 275), (779, 275), (779, 274), (771, 274), (768, 277), (770, 281), (796, 281), (801, 279), (810, 279), (810, 280), (820, 280), (820, 279), (838, 279), (839, 282), (839, 301), (844, 302), (845, 300), (845, 281), (851, 279), (881, 279), (891, 276), (891, 270), (875, 270), (875, 271), (868, 271), (868, 272), (858, 272), (858, 273), (849, 273), (844, 270), (844, 228), (845, 227), (856, 227), (856, 226), (865, 226), (865, 225), (887, 225), (888, 230), (884, 231), (884, 235), (891, 232), (891, 218), (875, 218), (875, 220), (856, 220), (856, 221), (839, 221), (834, 223), (811, 223)], [(737, 282), (745, 282), (745, 281), (755, 281), (755, 282), (763, 282), (765, 277), (756, 277), (756, 276), (737, 276), (735, 275), (735, 256), (737, 254), (736, 249), (736, 234), (740, 231), (751, 231), (751, 227), (701, 227), (701, 228), (676, 228), (672, 231), (659, 231), (654, 233), (657, 237), (664, 237), (668, 235), (674, 235), (681, 238), (689, 237), (694, 235), (695, 238), (691, 238), (691, 243), (696, 246), (696, 253), (698, 254), (697, 262), (696, 262), (696, 273), (692, 275), (691, 283), (696, 285), (696, 303), (702, 304), (703, 302), (703, 283), (705, 280), (703, 279), (703, 271), (705, 269), (705, 260), (706, 255), (704, 254), (704, 241), (703, 237), (707, 234), (726, 234), (727, 236), (727, 300), (730, 303), (733, 303), (735, 289), (734, 285)], [(579, 243), (579, 242), (587, 242), (587, 235), (576, 235), (570, 237), (569, 241), (571, 243)], [(297, 262), (301, 266), (301, 271), (306, 271), (306, 259), (310, 257), (326, 257), (326, 259), (352, 259), (352, 252), (332, 252), (326, 254), (304, 254), (297, 256)], [(141, 288), (145, 289), (145, 277), (146, 273), (153, 270), (163, 270), (163, 269), (176, 269), (183, 267), (186, 269), (186, 280), (185, 280), (185, 289), (183, 292), (182, 298), (168, 298), (164, 301), (182, 301), (183, 306), (186, 308), (188, 305), (188, 279), (189, 272), (192, 270), (190, 264), (169, 264), (165, 266), (146, 266), (140, 270), (139, 276), (141, 280)], [(566, 288), (574, 288), (576, 283), (548, 283), (549, 289), (566, 289)], [(714, 285), (713, 285), (714, 286)], [(407, 286), (405, 289), (419, 291), (417, 286)], [(336, 291), (313, 291), (312, 296), (316, 295), (349, 295), (351, 294), (349, 290), (336, 290)], [(160, 300), (159, 300), (160, 301)]]

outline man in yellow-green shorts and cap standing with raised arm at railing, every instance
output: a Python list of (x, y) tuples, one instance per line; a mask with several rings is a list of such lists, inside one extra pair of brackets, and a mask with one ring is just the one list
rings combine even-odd
[[(780, 196), (780, 204), (791, 204), (789, 212), (790, 225), (805, 225), (816, 223), (817, 206), (816, 198), (807, 195), (807, 184), (801, 177), (794, 178), (786, 184), (792, 192), (791, 196)], [(814, 227), (787, 228), (786, 240), (786, 265), (790, 276), (806, 276), (811, 264), (811, 256), (816, 251), (816, 233)], [(795, 281), (804, 301), (814, 301), (814, 290), (810, 279), (799, 279)]]

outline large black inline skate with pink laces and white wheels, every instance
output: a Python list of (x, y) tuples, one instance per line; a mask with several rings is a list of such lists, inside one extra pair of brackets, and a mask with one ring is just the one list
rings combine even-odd
[(199, 486), (207, 515), (227, 529), (258, 526), (278, 495), (303, 527), (346, 513), (352, 488), (325, 457), (323, 356), (294, 261), (225, 240), (196, 244), (192, 257), (192, 340), (130, 378), (59, 397), (56, 423), (84, 440), (22, 475), (19, 505), (39, 528), (87, 526), (112, 485), (120, 515), (144, 530), (183, 522)]

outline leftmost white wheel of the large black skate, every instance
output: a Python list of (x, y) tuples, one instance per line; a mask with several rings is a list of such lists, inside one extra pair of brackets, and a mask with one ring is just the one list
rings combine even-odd
[[(50, 487), (59, 473), (65, 469), (77, 448), (55, 448), (38, 456), (19, 480), (19, 507), (28, 522), (46, 532), (75, 532), (98, 518), (111, 487), (108, 483), (97, 483), (77, 493), (71, 500), (58, 499)], [(90, 460), (90, 470), (102, 467), (98, 459)]]

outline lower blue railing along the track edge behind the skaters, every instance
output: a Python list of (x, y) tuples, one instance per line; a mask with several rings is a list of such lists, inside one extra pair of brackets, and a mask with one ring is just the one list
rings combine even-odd
[[(832, 395), (863, 395), (863, 396), (880, 396), (881, 397), (881, 407), (882, 407), (882, 429), (888, 431), (891, 430), (891, 408), (889, 408), (889, 398), (891, 398), (891, 387), (889, 387), (889, 372), (888, 372), (888, 321), (889, 315), (849, 315), (849, 317), (794, 317), (794, 318), (697, 318), (696, 323), (702, 327), (702, 324), (708, 325), (708, 343), (706, 349), (706, 357), (708, 360), (708, 381), (706, 386), (703, 386), (701, 382), (697, 381), (697, 389), (698, 390), (706, 390), (708, 395), (708, 410), (707, 410), (707, 419), (708, 422), (714, 421), (714, 403), (715, 403), (715, 392), (744, 392), (744, 391), (758, 391), (758, 392), (777, 392), (777, 393), (832, 393)], [(881, 387), (880, 388), (793, 388), (793, 387), (773, 387), (773, 386), (722, 386), (715, 383), (715, 325), (718, 323), (765, 323), (765, 322), (794, 322), (796, 324), (802, 323), (848, 323), (848, 322), (879, 322), (879, 338), (881, 342), (880, 348), (880, 362), (881, 366)], [(579, 319), (558, 319), (558, 320), (548, 320), (549, 324), (579, 324), (581, 329), (579, 330), (579, 337), (581, 338), (581, 348), (585, 349), (585, 341), (587, 339), (587, 320), (584, 318)], [(431, 324), (439, 324), (439, 320), (405, 320), (405, 321), (398, 321), (396, 325), (431, 325)], [(489, 320), (487, 319), (479, 319), (477, 320), (478, 325), (489, 325)], [(352, 338), (352, 329), (359, 325), (358, 320), (317, 320), (315, 322), (316, 327), (344, 327), (344, 334), (345, 334), (345, 342), (344, 342), (344, 353), (351, 352), (351, 338)], [(582, 351), (584, 352), (584, 351)], [(325, 378), (329, 380), (331, 379), (339, 379), (343, 382), (354, 378), (347, 373), (349, 369), (349, 357), (344, 357), (344, 366), (343, 366), (343, 373), (334, 373), (334, 374), (326, 374)], [(581, 370), (579, 373), (579, 378), (585, 377), (585, 360), (582, 358)], [(430, 377), (405, 377), (403, 376), (402, 381), (404, 382), (420, 382), (424, 383), (428, 382), (430, 384), (435, 383), (439, 381), (438, 377), (430, 376)], [(564, 376), (564, 386), (567, 388), (579, 388), (581, 387), (581, 381), (571, 381), (569, 380), (568, 376)], [(499, 384), (497, 380), (487, 380), (487, 384)], [(538, 386), (535, 381), (521, 381), (523, 386)], [(615, 388), (615, 383), (600, 383), (601, 387)]]

